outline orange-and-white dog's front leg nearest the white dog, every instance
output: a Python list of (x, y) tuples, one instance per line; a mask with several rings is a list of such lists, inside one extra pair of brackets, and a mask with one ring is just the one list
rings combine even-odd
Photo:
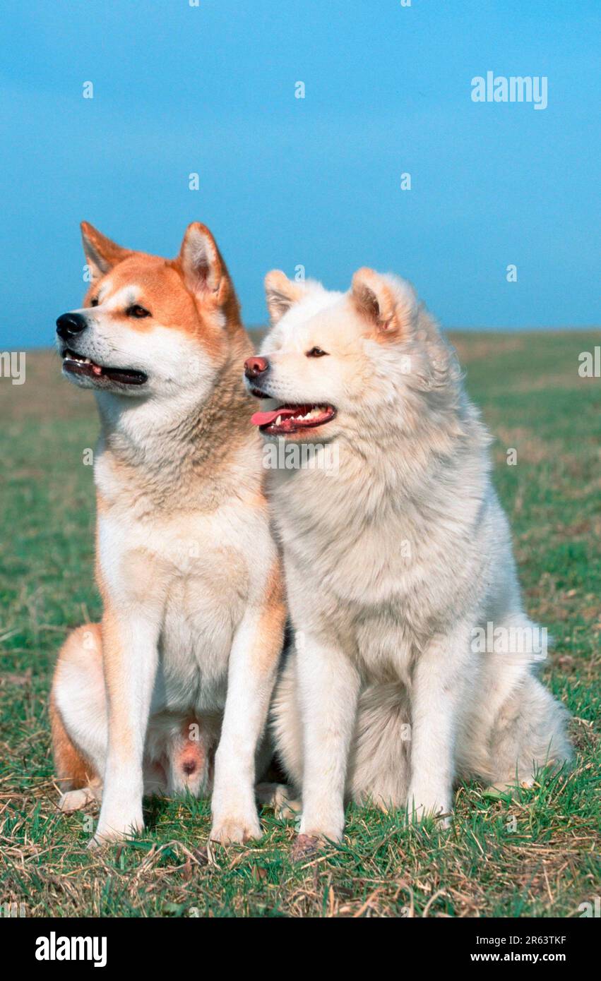
[(263, 603), (246, 611), (232, 645), (211, 800), (211, 839), (222, 844), (261, 836), (254, 800), (255, 753), (265, 726), (285, 622), (278, 579)]

